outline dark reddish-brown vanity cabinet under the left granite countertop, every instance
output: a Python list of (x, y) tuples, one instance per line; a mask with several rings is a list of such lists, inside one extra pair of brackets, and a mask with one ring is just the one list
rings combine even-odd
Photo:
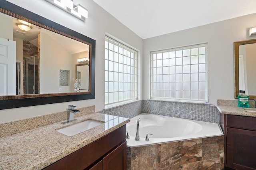
[(44, 170), (126, 170), (126, 125), (58, 160)]

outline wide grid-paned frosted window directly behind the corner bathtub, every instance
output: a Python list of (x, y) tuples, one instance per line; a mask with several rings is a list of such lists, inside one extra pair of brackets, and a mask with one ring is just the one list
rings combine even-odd
[(150, 98), (208, 102), (208, 44), (150, 53)]

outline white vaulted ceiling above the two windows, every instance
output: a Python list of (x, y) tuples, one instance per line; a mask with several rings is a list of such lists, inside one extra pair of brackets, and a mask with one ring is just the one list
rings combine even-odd
[(256, 13), (256, 0), (93, 1), (142, 39)]

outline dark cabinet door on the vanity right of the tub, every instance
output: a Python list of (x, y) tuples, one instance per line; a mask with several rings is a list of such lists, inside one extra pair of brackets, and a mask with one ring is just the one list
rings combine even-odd
[(256, 131), (227, 127), (227, 166), (256, 170)]

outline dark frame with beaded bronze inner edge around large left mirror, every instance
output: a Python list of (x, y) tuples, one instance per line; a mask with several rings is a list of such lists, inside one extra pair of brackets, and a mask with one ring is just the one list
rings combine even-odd
[(89, 92), (0, 96), (0, 110), (95, 98), (95, 40), (34, 14), (24, 8), (16, 6), (6, 0), (0, 0), (0, 12), (90, 45)]

